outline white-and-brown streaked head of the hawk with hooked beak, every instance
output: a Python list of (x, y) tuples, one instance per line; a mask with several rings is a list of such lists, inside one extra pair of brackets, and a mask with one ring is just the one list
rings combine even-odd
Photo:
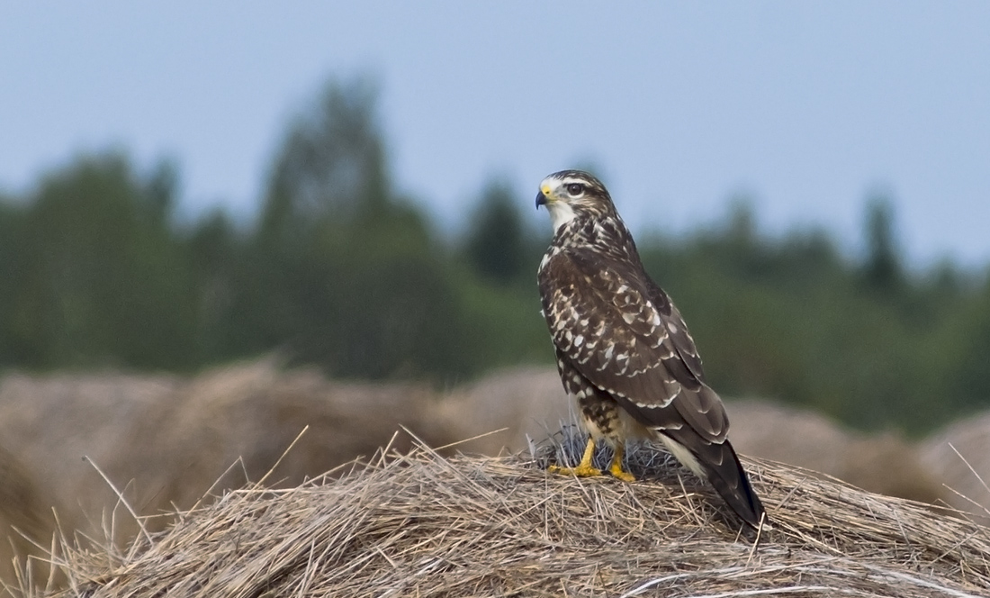
[(537, 194), (538, 210), (540, 206), (546, 206), (554, 232), (575, 218), (615, 211), (602, 181), (582, 170), (561, 170), (547, 176)]

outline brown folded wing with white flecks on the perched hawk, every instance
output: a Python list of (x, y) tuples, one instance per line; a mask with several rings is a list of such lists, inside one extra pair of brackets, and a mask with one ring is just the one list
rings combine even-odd
[(642, 265), (591, 249), (554, 254), (540, 274), (550, 335), (582, 376), (650, 428), (683, 430), (679, 442), (722, 443), (725, 408), (704, 382), (694, 340)]

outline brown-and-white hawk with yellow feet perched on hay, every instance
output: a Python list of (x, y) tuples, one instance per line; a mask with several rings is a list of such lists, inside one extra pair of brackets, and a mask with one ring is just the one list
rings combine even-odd
[(615, 449), (610, 473), (633, 481), (622, 467), (626, 441), (658, 440), (758, 527), (763, 505), (726, 436), (722, 400), (605, 186), (580, 170), (555, 172), (540, 184), (540, 206), (553, 225), (538, 275), (543, 314), (560, 380), (590, 434), (577, 466), (551, 469), (601, 475), (591, 460), (605, 442)]

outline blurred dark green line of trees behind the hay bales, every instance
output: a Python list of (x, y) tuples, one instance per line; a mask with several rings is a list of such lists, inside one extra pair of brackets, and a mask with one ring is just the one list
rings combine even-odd
[[(175, 164), (139, 171), (120, 152), (0, 196), (0, 367), (192, 370), (274, 349), (335, 376), (446, 384), (550, 363), (545, 215), (493, 179), (465, 202), (466, 232), (441, 235), (390, 178), (375, 99), (331, 82), (289, 124), (247, 226), (222, 210), (180, 222)], [(755, 220), (738, 202), (720, 225), (639, 235), (720, 392), (913, 433), (990, 405), (985, 273), (910, 271), (882, 196), (859, 259)]]

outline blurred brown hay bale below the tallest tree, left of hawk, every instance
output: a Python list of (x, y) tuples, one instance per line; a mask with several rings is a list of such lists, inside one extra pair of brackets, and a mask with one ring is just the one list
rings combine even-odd
[[(429, 417), (434, 398), (426, 384), (330, 381), (315, 368), (281, 370), (271, 360), (225, 367), (179, 389), (170, 417), (159, 422), (157, 458), (141, 466), (162, 472), (160, 495), (188, 508), (211, 484), (239, 488), (260, 479), (308, 428), (268, 476), (278, 486), (295, 486), (370, 457), (400, 426), (430, 444), (446, 444), (449, 437)], [(408, 436), (397, 442), (397, 449), (411, 446)]]

